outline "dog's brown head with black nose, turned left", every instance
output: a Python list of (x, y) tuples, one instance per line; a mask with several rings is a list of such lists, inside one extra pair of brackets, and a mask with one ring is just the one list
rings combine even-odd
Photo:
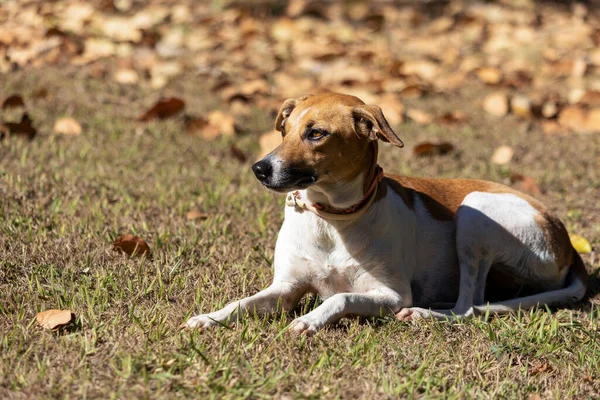
[(337, 93), (286, 100), (275, 128), (282, 143), (252, 170), (277, 192), (354, 179), (377, 162), (377, 139), (404, 146), (381, 108)]

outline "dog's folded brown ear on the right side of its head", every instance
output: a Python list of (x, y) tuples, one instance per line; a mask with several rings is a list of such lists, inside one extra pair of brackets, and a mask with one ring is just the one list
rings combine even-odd
[(383, 116), (381, 108), (376, 105), (361, 105), (352, 109), (356, 132), (371, 140), (378, 138), (396, 147), (404, 147), (404, 143), (392, 130)]

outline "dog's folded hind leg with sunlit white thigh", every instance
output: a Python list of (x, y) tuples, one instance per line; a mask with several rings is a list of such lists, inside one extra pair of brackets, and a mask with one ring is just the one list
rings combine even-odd
[[(566, 230), (527, 200), (514, 194), (473, 192), (457, 211), (456, 224), (461, 283), (455, 307), (402, 310), (399, 319), (497, 314), (564, 304), (583, 297), (587, 273), (568, 241)], [(482, 305), (487, 272), (492, 264), (496, 265), (494, 268), (502, 266), (503, 272), (512, 275), (515, 282), (532, 286), (539, 293)], [(475, 275), (476, 284), (470, 286)]]

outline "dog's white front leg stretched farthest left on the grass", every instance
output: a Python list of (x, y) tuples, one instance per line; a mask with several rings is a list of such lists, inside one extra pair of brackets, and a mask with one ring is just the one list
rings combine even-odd
[(200, 314), (188, 319), (184, 326), (189, 328), (209, 328), (219, 323), (235, 321), (246, 313), (256, 312), (267, 315), (275, 312), (281, 302), (285, 311), (293, 309), (305, 293), (305, 288), (290, 282), (273, 282), (268, 288), (254, 296), (234, 301), (219, 311), (210, 314)]

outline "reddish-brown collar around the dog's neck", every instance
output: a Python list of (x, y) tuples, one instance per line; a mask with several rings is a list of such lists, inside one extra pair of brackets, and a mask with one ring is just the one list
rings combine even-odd
[(296, 207), (299, 209), (305, 209), (311, 211), (312, 213), (318, 215), (321, 218), (325, 219), (335, 219), (335, 220), (350, 220), (354, 218), (358, 218), (362, 215), (367, 209), (373, 204), (375, 201), (375, 197), (377, 196), (377, 187), (379, 186), (379, 182), (383, 179), (383, 169), (378, 165), (375, 167), (375, 171), (377, 174), (375, 175), (375, 179), (369, 186), (367, 193), (365, 193), (364, 197), (356, 204), (348, 208), (333, 208), (327, 205), (323, 205), (321, 203), (306, 203), (302, 201), (300, 198), (300, 192), (297, 190), (295, 192), (290, 192), (287, 195), (285, 200), (285, 204), (289, 207)]

